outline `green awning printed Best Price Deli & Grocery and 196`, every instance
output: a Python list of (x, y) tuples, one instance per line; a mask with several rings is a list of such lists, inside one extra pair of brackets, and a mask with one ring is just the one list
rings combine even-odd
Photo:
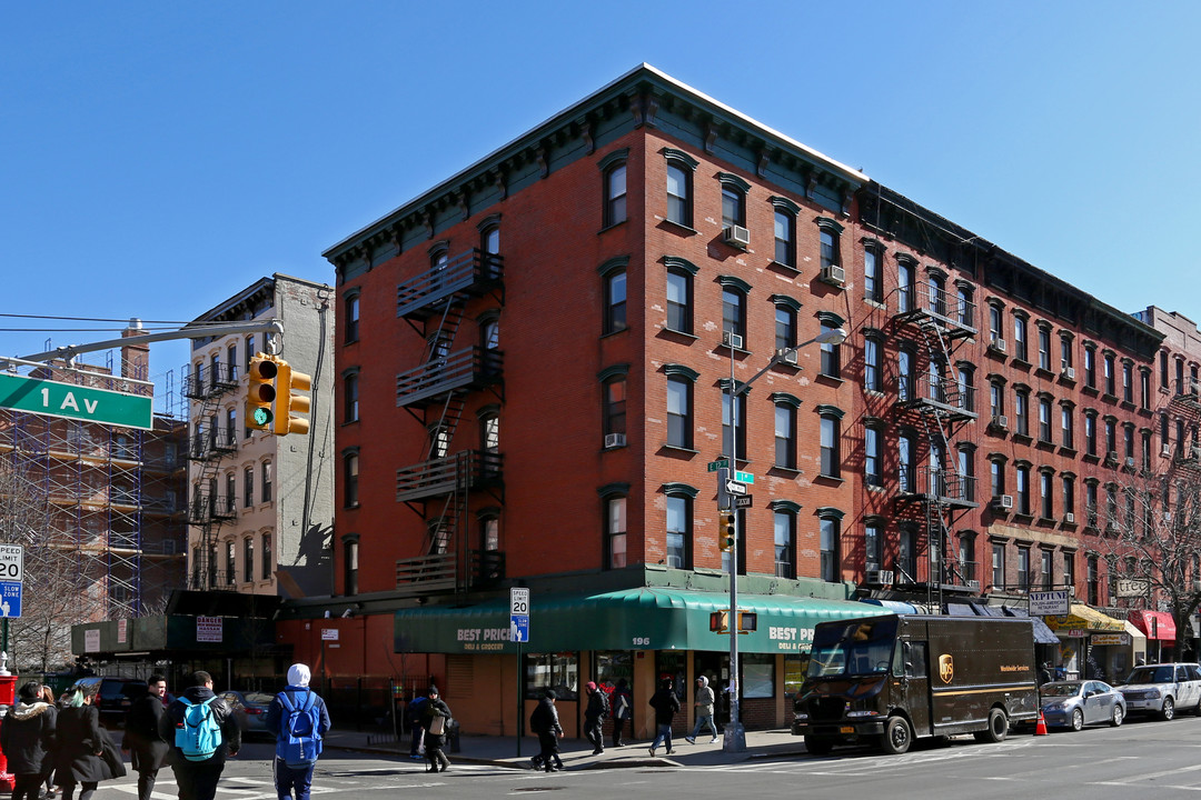
[[(646, 587), (598, 595), (533, 594), (530, 600), (525, 652), (730, 648), (728, 634), (709, 630), (710, 613), (730, 607), (721, 591)], [(758, 614), (758, 630), (740, 634), (741, 652), (807, 652), (818, 622), (888, 613), (860, 602), (751, 594), (739, 595), (739, 609)], [(516, 648), (509, 640), (508, 599), (396, 612), (396, 652), (515, 654)]]

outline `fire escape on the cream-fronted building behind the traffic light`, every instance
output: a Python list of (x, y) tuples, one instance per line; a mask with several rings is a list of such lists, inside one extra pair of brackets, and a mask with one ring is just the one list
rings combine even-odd
[(184, 396), (191, 405), (192, 429), (187, 439), (187, 458), (193, 464), (192, 498), (187, 506), (187, 524), (199, 528), (197, 539), (201, 558), (192, 565), (189, 578), (191, 589), (221, 589), (231, 587), (232, 575), (217, 570), (217, 534), (221, 524), (238, 517), (232, 487), (220, 492), (217, 475), (221, 459), (238, 450), (238, 433), (222, 428), (217, 411), (225, 396), (238, 389), (235, 367), (215, 363), (189, 371), (185, 367)]

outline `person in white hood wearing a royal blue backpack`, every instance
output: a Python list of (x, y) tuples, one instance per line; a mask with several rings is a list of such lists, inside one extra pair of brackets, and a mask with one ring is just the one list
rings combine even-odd
[(275, 734), (275, 790), (280, 800), (309, 800), (312, 768), (329, 733), (325, 700), (309, 688), (306, 664), (288, 668), (288, 685), (267, 709), (267, 729)]

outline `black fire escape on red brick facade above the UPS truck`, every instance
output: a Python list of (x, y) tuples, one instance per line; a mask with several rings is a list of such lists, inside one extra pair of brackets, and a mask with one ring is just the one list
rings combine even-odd
[(901, 287), (895, 297), (894, 332), (909, 343), (909, 372), (900, 377), (892, 411), (901, 425), (920, 434), (898, 469), (897, 517), (918, 528), (914, 551), (920, 551), (921, 531), (926, 543), (924, 560), (916, 552), (898, 559), (895, 587), (915, 594), (924, 590), (927, 604), (942, 606), (945, 590), (978, 588), (975, 576), (964, 575), (963, 569), (974, 565), (948, 558), (955, 518), (979, 505), (975, 477), (961, 473), (958, 453), (951, 449), (955, 433), (978, 416), (975, 387), (961, 379), (952, 359), (976, 333), (975, 306), (948, 294), (934, 278)]

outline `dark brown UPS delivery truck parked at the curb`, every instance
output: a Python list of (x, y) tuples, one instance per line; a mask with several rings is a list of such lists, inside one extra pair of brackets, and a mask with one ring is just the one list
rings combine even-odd
[(821, 622), (795, 700), (793, 734), (811, 753), (874, 742), (903, 753), (915, 736), (1002, 741), (1036, 721), (1029, 619), (889, 614)]

